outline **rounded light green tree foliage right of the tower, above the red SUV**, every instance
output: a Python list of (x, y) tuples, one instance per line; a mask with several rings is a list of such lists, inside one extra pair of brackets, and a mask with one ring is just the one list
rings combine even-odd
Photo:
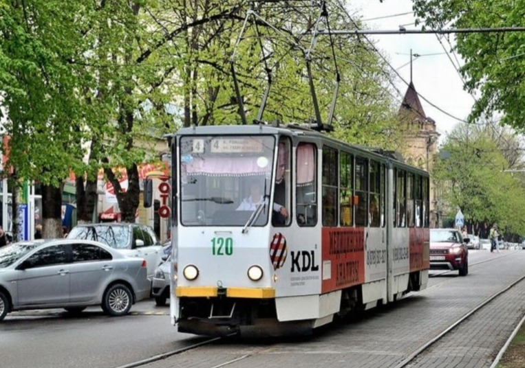
[(525, 189), (509, 172), (508, 162), (486, 130), (458, 126), (441, 149), (433, 178), (450, 205), (449, 216), (460, 208), (465, 219), (497, 223), (511, 233), (525, 233)]

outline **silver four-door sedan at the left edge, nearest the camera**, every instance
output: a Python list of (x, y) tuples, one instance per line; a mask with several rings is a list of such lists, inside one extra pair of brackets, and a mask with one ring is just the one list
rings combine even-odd
[(146, 260), (100, 242), (58, 239), (17, 242), (0, 249), (0, 321), (8, 312), (100, 305), (127, 314), (149, 297)]

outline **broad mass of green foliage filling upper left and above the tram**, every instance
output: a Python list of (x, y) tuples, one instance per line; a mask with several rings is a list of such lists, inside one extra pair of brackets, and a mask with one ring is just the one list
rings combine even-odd
[[(164, 133), (239, 123), (232, 60), (248, 122), (257, 117), (268, 69), (263, 119), (310, 121), (305, 60), (319, 9), (250, 4), (261, 17), (249, 19), (234, 58), (244, 0), (0, 0), (1, 97), (18, 177), (59, 187), (69, 170), (91, 180), (99, 168), (133, 173), (135, 163), (158, 159), (153, 145)], [(355, 27), (344, 5), (328, 3), (333, 29)], [(354, 36), (335, 41), (334, 135), (391, 143), (397, 125), (385, 65)], [(324, 123), (336, 80), (331, 55), (328, 36), (319, 36), (310, 60)], [(133, 216), (136, 202), (119, 197)]]

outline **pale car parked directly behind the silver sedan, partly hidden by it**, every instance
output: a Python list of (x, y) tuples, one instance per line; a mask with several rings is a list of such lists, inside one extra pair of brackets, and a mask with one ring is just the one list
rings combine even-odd
[(76, 225), (69, 231), (67, 238), (102, 242), (126, 255), (144, 258), (150, 281), (155, 268), (162, 262), (162, 245), (159, 244), (155, 231), (146, 225), (129, 222)]

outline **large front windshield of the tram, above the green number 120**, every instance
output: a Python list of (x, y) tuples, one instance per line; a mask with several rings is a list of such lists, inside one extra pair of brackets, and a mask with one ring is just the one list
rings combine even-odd
[(264, 226), (275, 137), (180, 139), (180, 220), (184, 226)]

